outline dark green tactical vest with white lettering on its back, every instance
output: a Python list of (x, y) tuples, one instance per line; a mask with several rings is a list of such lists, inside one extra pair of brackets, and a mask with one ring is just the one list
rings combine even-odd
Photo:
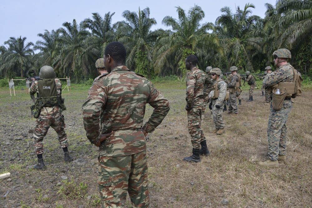
[(57, 97), (55, 79), (38, 80), (38, 91), (42, 107), (61, 105)]

